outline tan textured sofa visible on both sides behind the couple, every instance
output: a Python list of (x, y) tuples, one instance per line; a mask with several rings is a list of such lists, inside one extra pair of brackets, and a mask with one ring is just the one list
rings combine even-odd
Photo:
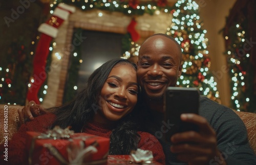
[[(4, 104), (0, 104), (0, 144), (4, 143)], [(12, 138), (13, 133), (15, 133), (19, 127), (19, 117), (18, 109), (23, 108), (20, 105), (8, 105), (8, 139)], [(248, 140), (251, 148), (256, 154), (256, 114), (247, 112), (234, 111), (244, 122), (247, 133)]]

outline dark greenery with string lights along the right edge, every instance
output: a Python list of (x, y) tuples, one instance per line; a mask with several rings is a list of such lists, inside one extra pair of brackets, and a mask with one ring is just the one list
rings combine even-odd
[(229, 67), (231, 106), (237, 111), (254, 112), (256, 97), (254, 93), (254, 67), (250, 61), (251, 49), (255, 42), (249, 35), (248, 19), (240, 15), (233, 22), (225, 36), (227, 47), (225, 54)]

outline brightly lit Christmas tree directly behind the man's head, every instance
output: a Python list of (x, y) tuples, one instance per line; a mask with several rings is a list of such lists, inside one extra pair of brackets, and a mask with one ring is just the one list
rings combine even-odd
[(202, 95), (220, 102), (217, 82), (209, 71), (210, 59), (207, 51), (206, 30), (199, 16), (199, 5), (191, 0), (178, 1), (173, 12), (172, 24), (167, 35), (176, 39), (183, 54), (182, 76), (177, 85), (196, 87)]

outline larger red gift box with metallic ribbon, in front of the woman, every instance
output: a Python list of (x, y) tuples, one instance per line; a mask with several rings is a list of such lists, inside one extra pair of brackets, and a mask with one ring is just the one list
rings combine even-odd
[[(42, 133), (27, 132), (26, 149), (30, 164), (67, 164), (74, 159), (81, 149), (94, 146), (96, 153), (88, 152), (82, 156), (86, 164), (106, 164), (110, 139), (88, 133), (74, 133), (69, 139), (53, 139)], [(90, 148), (90, 147), (89, 147)], [(80, 149), (80, 150), (79, 150)], [(70, 158), (69, 158), (70, 157)]]

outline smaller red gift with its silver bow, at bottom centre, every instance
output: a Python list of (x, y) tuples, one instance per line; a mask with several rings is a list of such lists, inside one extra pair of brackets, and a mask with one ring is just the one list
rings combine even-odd
[(111, 164), (161, 164), (153, 160), (152, 151), (137, 149), (131, 155), (109, 155), (108, 165)]

